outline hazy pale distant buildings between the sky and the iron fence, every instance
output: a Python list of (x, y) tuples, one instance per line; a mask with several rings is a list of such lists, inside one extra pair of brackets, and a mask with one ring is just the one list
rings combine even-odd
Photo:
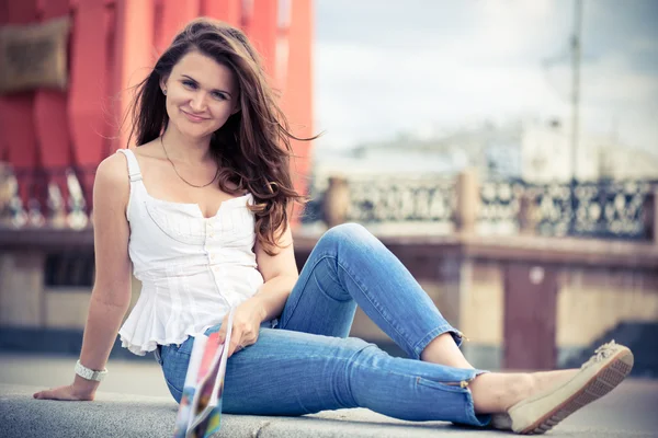
[[(451, 175), (474, 166), (485, 178), (521, 177), (532, 183), (572, 177), (570, 131), (558, 122), (481, 124), (434, 138), (398, 138), (360, 145), (345, 151), (316, 150), (316, 184), (331, 174), (413, 176)], [(626, 148), (612, 138), (581, 134), (577, 178), (658, 180), (658, 154)]]

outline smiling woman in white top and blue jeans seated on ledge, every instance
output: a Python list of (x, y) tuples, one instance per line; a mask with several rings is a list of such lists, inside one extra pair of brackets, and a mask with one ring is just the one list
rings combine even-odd
[[(619, 384), (632, 353), (601, 347), (580, 370), (492, 373), (384, 245), (356, 224), (329, 230), (297, 274), (287, 211), (290, 138), (245, 35), (191, 22), (140, 84), (134, 151), (94, 184), (97, 277), (72, 384), (36, 399), (93, 400), (118, 332), (155, 351), (180, 401), (194, 336), (236, 308), (223, 407), (300, 415), (368, 407), (397, 418), (545, 431)], [(131, 264), (143, 291), (131, 298)], [(409, 355), (348, 338), (359, 304)], [(504, 424), (507, 423), (507, 424)]]

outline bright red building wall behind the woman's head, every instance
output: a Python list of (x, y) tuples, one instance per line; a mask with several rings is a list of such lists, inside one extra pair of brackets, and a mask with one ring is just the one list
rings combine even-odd
[[(290, 5), (288, 11), (281, 11)], [(0, 0), (0, 25), (30, 24), (68, 15), (69, 85), (0, 95), (0, 160), (16, 171), (25, 205), (43, 196), (35, 172), (65, 189), (64, 171), (75, 169), (90, 204), (99, 162), (127, 147), (121, 120), (138, 83), (174, 34), (200, 15), (242, 27), (282, 91), (282, 105), (298, 136), (313, 134), (313, 1), (291, 0)], [(281, 16), (290, 18), (283, 23)], [(286, 50), (276, 53), (277, 48)], [(285, 54), (287, 53), (287, 56)], [(285, 59), (283, 59), (285, 57)], [(296, 186), (306, 193), (310, 143), (295, 142)], [(42, 207), (43, 209), (43, 207)]]

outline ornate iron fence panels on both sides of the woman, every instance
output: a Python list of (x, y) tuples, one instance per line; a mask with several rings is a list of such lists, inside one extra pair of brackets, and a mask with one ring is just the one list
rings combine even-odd
[[(0, 181), (0, 226), (80, 229), (88, 226), (89, 194), (75, 169), (25, 172), (4, 170)], [(446, 224), (455, 229), (454, 177), (359, 177), (347, 184), (345, 221), (365, 224)], [(658, 181), (603, 181), (527, 184), (489, 180), (479, 184), (480, 232), (515, 233), (529, 228), (542, 235), (600, 239), (649, 239), (647, 200)], [(311, 189), (303, 223), (325, 219), (327, 187)], [(408, 228), (407, 228), (408, 229)], [(441, 231), (438, 231), (441, 232)]]

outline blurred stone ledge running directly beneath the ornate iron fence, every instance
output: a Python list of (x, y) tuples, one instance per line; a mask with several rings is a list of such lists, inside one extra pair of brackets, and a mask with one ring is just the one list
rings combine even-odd
[[(295, 251), (307, 256), (320, 233), (294, 232)], [(397, 254), (409, 246), (418, 255), (434, 255), (436, 249), (445, 255), (480, 258), (526, 260), (591, 266), (658, 267), (658, 244), (654, 241), (603, 240), (588, 238), (552, 238), (543, 235), (388, 235), (382, 242)], [(21, 230), (0, 228), (0, 247), (4, 251), (89, 251), (93, 249), (93, 229), (80, 231), (52, 228)], [(305, 260), (305, 257), (304, 257)]]

